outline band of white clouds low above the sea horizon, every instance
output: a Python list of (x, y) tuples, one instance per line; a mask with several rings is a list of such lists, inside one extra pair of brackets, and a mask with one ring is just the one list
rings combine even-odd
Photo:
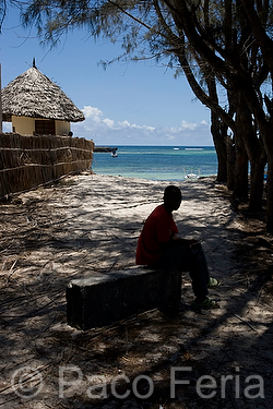
[[(114, 121), (105, 118), (95, 107), (83, 108), (85, 121), (72, 124), (75, 136), (94, 140), (96, 145), (212, 145), (206, 121), (192, 123), (182, 120), (178, 127), (151, 127), (130, 123), (127, 119)], [(162, 120), (162, 118), (161, 118)]]

